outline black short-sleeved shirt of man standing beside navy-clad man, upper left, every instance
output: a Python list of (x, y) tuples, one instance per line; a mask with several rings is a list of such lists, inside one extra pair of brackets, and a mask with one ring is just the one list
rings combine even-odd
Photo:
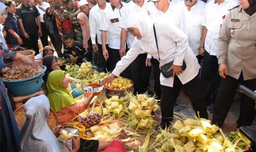
[(35, 5), (24, 6), (22, 3), (16, 8), (16, 18), (22, 19), (24, 29), (27, 34), (37, 34), (38, 26), (35, 18), (38, 17), (40, 13), (38, 12)]

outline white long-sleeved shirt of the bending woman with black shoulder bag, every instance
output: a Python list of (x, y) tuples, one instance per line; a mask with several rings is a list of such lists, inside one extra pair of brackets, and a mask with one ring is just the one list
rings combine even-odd
[[(155, 22), (155, 28), (161, 59), (160, 64), (164, 65), (174, 60), (173, 64), (182, 65), (183, 60), (185, 60), (187, 68), (178, 76), (178, 78), (182, 84), (188, 83), (197, 76), (200, 66), (193, 51), (188, 47), (187, 35), (172, 24), (168, 25)], [(119, 76), (120, 73), (135, 60), (141, 50), (147, 50), (148, 54), (154, 56), (159, 61), (153, 32), (151, 37), (151, 42), (143, 42), (142, 40), (135, 38), (132, 48), (120, 61), (117, 62), (116, 68), (112, 73), (115, 76)], [(160, 83), (163, 86), (173, 87), (173, 80), (173, 77), (165, 78), (162, 73), (160, 75)]]

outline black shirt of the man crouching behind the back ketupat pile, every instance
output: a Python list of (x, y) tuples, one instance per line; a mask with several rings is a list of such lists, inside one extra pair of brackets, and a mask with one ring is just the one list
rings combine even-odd
[(76, 64), (82, 63), (82, 58), (92, 58), (92, 53), (89, 51), (86, 51), (83, 48), (83, 43), (74, 41), (74, 45), (69, 48), (67, 45), (64, 43), (64, 52), (63, 56), (64, 58), (69, 58), (69, 55), (73, 55), (74, 57), (78, 56), (78, 60)]

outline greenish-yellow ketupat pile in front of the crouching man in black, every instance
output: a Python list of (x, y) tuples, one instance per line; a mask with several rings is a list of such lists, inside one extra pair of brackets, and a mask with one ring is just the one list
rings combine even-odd
[(66, 65), (67, 70), (66, 77), (73, 78), (71, 80), (78, 81), (84, 85), (90, 83), (99, 83), (99, 80), (103, 80), (109, 73), (98, 72), (93, 70), (91, 62), (83, 62), (81, 66), (78, 65)]

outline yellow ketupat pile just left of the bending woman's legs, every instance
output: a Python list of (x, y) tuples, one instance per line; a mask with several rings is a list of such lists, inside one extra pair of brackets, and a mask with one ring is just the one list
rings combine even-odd
[(131, 127), (136, 129), (151, 129), (152, 126), (155, 126), (151, 112), (159, 109), (157, 100), (146, 94), (134, 96), (131, 92), (127, 92), (127, 96), (129, 98), (127, 110), (129, 114), (128, 121)]

